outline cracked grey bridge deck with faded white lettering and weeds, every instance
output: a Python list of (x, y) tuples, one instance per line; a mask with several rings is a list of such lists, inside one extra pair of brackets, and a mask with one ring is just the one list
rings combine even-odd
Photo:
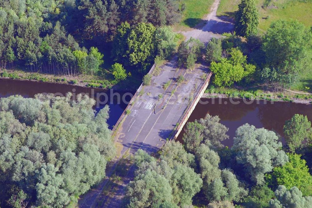
[[(155, 71), (154, 71), (155, 72)], [(203, 83), (208, 67), (198, 65), (194, 70), (178, 69), (176, 59), (161, 66), (161, 72), (153, 75), (150, 86), (144, 86), (143, 95), (135, 97), (127, 115), (117, 129), (118, 141), (123, 145), (121, 154), (129, 149), (135, 153), (143, 149), (155, 153), (170, 137), (183, 113), (193, 100), (194, 93)], [(178, 84), (176, 78), (183, 75), (185, 81)], [(169, 87), (164, 83), (171, 80)], [(172, 91), (175, 90), (174, 93)], [(161, 99), (158, 95), (162, 94)]]

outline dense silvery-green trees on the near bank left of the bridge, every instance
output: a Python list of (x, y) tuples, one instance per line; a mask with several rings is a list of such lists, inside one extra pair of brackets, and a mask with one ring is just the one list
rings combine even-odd
[(108, 106), (77, 96), (0, 99), (0, 206), (63, 207), (105, 176), (115, 156)]

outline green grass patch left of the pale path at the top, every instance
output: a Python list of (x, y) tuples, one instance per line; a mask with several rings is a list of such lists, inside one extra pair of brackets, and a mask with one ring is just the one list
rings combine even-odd
[(182, 21), (177, 25), (179, 29), (195, 27), (202, 21), (204, 15), (208, 14), (214, 0), (184, 0), (185, 3)]

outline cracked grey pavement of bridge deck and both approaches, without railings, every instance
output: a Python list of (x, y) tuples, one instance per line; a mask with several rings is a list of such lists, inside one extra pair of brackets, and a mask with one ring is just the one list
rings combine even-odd
[[(233, 26), (217, 17), (217, 7), (220, 0), (212, 5), (211, 12), (205, 17), (202, 27), (182, 32), (186, 39), (198, 38), (202, 42), (208, 42), (212, 37), (221, 37), (223, 32), (232, 31)], [(135, 153), (143, 149), (149, 154), (155, 153), (161, 148), (169, 137), (173, 128), (187, 109), (189, 100), (203, 81), (202, 75), (208, 72), (205, 65), (197, 65), (194, 70), (178, 69), (177, 57), (163, 64), (153, 73), (152, 84), (144, 86), (143, 95), (138, 96), (131, 105), (131, 113), (127, 115), (118, 128), (116, 135), (122, 144), (121, 154)], [(183, 75), (185, 81), (177, 84), (176, 78)], [(170, 82), (167, 89), (163, 85)], [(161, 94), (162, 98), (158, 95)], [(113, 170), (117, 162), (110, 168)], [(103, 190), (109, 183), (108, 177), (98, 187), (90, 190), (79, 200), (79, 207), (119, 207), (124, 196), (124, 187), (134, 177), (133, 166), (129, 168), (122, 182), (115, 184), (114, 196), (106, 196)]]

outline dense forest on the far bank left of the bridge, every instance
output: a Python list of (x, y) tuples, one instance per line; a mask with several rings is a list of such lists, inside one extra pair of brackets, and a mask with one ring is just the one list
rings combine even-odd
[[(128, 22), (134, 29), (124, 31), (126, 34), (119, 34), (119, 38), (129, 33), (130, 40), (139, 42), (145, 38), (142, 33), (148, 31), (154, 40), (155, 27), (180, 21), (182, 11), (178, 0), (3, 0), (1, 66), (64, 75), (96, 74), (103, 63), (103, 51), (111, 50), (107, 43), (123, 30), (118, 28), (121, 23)], [(144, 22), (152, 25), (138, 25)], [(115, 51), (128, 50), (119, 46)], [(133, 48), (123, 55), (141, 53), (135, 45)], [(133, 57), (130, 65), (147, 64), (147, 58), (153, 61), (156, 51), (152, 47), (148, 52), (148, 57)], [(113, 56), (117, 62), (124, 62), (118, 53)]]

